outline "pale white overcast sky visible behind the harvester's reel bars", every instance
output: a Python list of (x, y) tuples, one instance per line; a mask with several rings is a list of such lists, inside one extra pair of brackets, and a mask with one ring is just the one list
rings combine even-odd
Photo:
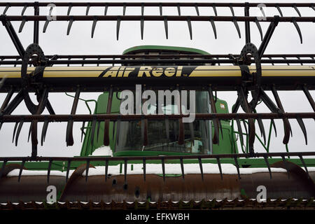
[[(97, 1), (97, 0), (95, 0)], [(47, 1), (45, 1), (47, 2)], [(72, 1), (73, 2), (73, 1)], [(152, 2), (152, 1), (149, 1)], [(158, 1), (161, 2), (161, 1)], [(182, 1), (190, 2), (190, 1)], [(195, 2), (195, 1), (193, 1)], [(209, 2), (209, 1), (198, 1)], [(211, 1), (221, 2), (221, 1)], [(226, 1), (226, 2), (244, 2), (244, 1)], [(258, 2), (250, 1), (248, 2)], [(295, 2), (295, 1), (259, 1), (263, 2)], [(311, 2), (311, 1), (303, 1)], [(299, 8), (302, 16), (315, 16), (315, 11), (311, 8)], [(0, 7), (2, 13), (4, 7)], [(57, 15), (66, 15), (68, 8), (57, 8)], [(86, 8), (75, 7), (71, 9), (71, 15), (85, 15)], [(212, 8), (200, 7), (200, 15), (214, 15)], [(217, 8), (218, 15), (231, 15), (229, 8)], [(234, 8), (235, 15), (244, 15), (242, 8)], [(298, 16), (293, 8), (281, 8), (284, 16)], [(9, 8), (7, 15), (20, 15), (22, 7)], [(41, 15), (47, 15), (48, 8), (41, 8)], [(25, 15), (32, 15), (34, 9), (29, 7)], [(196, 15), (195, 8), (181, 8), (182, 15)], [(259, 10), (251, 8), (250, 15), (260, 15)], [(276, 8), (265, 9), (267, 16), (279, 15)], [(177, 8), (163, 8), (164, 15), (177, 15)], [(104, 8), (91, 7), (89, 15), (104, 15)], [(111, 7), (107, 15), (123, 15), (122, 7)], [(140, 7), (127, 7), (126, 15), (141, 15)], [(144, 15), (159, 15), (158, 7), (147, 7)], [(68, 22), (50, 22), (48, 29), (43, 34), (43, 24), (40, 22), (39, 45), (45, 55), (83, 55), (83, 54), (122, 54), (123, 50), (135, 45), (171, 45), (189, 48), (199, 48), (212, 54), (239, 54), (245, 44), (244, 40), (244, 23), (239, 22), (241, 29), (241, 38), (237, 35), (237, 30), (232, 22), (216, 22), (218, 38), (214, 38), (210, 22), (192, 22), (193, 40), (190, 40), (187, 22), (169, 22), (169, 38), (165, 38), (165, 29), (163, 22), (145, 22), (144, 40), (141, 40), (140, 22), (123, 21), (120, 25), (119, 41), (116, 40), (116, 22), (101, 21), (97, 22), (94, 32), (94, 38), (91, 38), (92, 22), (73, 22), (69, 36), (66, 36)], [(261, 22), (263, 34), (267, 30), (268, 23)], [(20, 22), (13, 22), (15, 30), (18, 31)], [(294, 25), (290, 22), (279, 23), (274, 31), (274, 35), (265, 51), (266, 54), (293, 54), (293, 53), (314, 53), (315, 52), (315, 24), (311, 22), (300, 22), (300, 29), (303, 36), (303, 44), (300, 44), (300, 38)], [(6, 29), (0, 25), (0, 55), (18, 55), (15, 47), (10, 40)], [(26, 22), (22, 33), (18, 34), (22, 45), (33, 42), (33, 22)], [(257, 47), (260, 45), (260, 34), (255, 26), (251, 23), (251, 42)], [(268, 92), (269, 96), (272, 94)], [(315, 98), (314, 91), (311, 91)], [(81, 93), (80, 97), (84, 99), (97, 99), (99, 93)], [(283, 107), (287, 112), (307, 112), (312, 111), (303, 92), (279, 92)], [(0, 103), (2, 104), (5, 94), (0, 94)], [(218, 92), (218, 97), (228, 102), (229, 111), (237, 99), (236, 92)], [(67, 97), (64, 93), (50, 93), (50, 102), (55, 112), (58, 114), (69, 114), (73, 99)], [(273, 99), (273, 97), (272, 97)], [(91, 105), (94, 108), (94, 105)], [(269, 112), (267, 108), (260, 104), (258, 112)], [(48, 113), (44, 111), (44, 113)], [(79, 102), (77, 113), (88, 113), (84, 102)], [(18, 106), (13, 114), (29, 114), (24, 102)], [(304, 144), (304, 137), (296, 120), (290, 121), (293, 129), (293, 138), (290, 138), (288, 144), (290, 151), (314, 151), (315, 146), (315, 123), (314, 120), (304, 120), (307, 128), (308, 145)], [(46, 141), (43, 147), (38, 146), (38, 155), (45, 156), (71, 156), (80, 154), (80, 125), (75, 123), (73, 126), (74, 145), (66, 147), (66, 123), (50, 123)], [(38, 125), (38, 140), (40, 140), (41, 127)], [(22, 127), (18, 147), (12, 144), (13, 123), (5, 123), (0, 131), (0, 156), (26, 156), (31, 153), (31, 143), (27, 143), (27, 133), (29, 124)], [(276, 121), (278, 138), (272, 135), (272, 152), (283, 152), (285, 146), (282, 144), (283, 125), (281, 120)], [(265, 130), (269, 130), (269, 122), (265, 122)], [(258, 127), (257, 127), (257, 131)], [(267, 134), (267, 133), (266, 133)], [(240, 151), (240, 149), (239, 149)], [(255, 151), (263, 152), (264, 150), (256, 140)]]

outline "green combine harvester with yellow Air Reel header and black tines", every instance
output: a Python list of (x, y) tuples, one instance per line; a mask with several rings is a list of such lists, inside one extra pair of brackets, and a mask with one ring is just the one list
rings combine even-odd
[[(315, 88), (315, 55), (264, 54), (281, 23), (292, 24), (302, 43), (298, 24), (307, 22), (314, 29), (315, 17), (303, 17), (299, 8), (315, 10), (314, 3), (265, 3), (266, 7), (277, 8), (281, 15), (265, 20), (249, 15), (257, 3), (54, 4), (57, 8), (67, 7), (67, 15), (57, 15), (55, 20), (39, 15), (48, 3), (0, 3), (4, 8), (2, 25), (19, 54), (0, 56), (0, 92), (7, 93), (0, 105), (0, 123), (15, 124), (15, 145), (22, 126), (30, 124), (31, 139), (29, 157), (0, 158), (0, 209), (315, 208), (315, 159), (311, 158), (315, 151), (279, 153), (270, 145), (273, 130), (276, 134), (275, 119), (283, 121), (283, 144), (287, 146), (290, 132), (294, 131), (289, 122), (293, 119), (300, 125), (307, 144), (303, 119), (315, 118), (315, 103), (309, 92)], [(106, 15), (113, 6), (121, 6), (123, 15)], [(22, 15), (6, 15), (18, 7)], [(27, 7), (34, 8), (34, 15), (23, 15)], [(75, 7), (86, 7), (86, 15), (70, 15)], [(105, 14), (89, 15), (90, 7), (102, 7)], [(128, 7), (140, 7), (141, 15), (125, 15)], [(160, 8), (160, 15), (144, 15), (146, 7)], [(163, 15), (167, 7), (176, 7), (179, 15)], [(184, 7), (195, 8), (197, 15), (181, 15)], [(213, 8), (215, 15), (200, 15), (201, 7)], [(231, 15), (217, 15), (217, 8), (230, 8)], [(234, 8), (244, 9), (244, 16), (235, 16)], [(286, 17), (281, 8), (293, 8), (299, 16)], [(43, 32), (49, 29), (50, 22), (68, 21), (67, 34), (73, 22), (91, 21), (93, 37), (97, 22), (102, 20), (117, 22), (117, 38), (123, 21), (139, 21), (141, 38), (146, 21), (164, 23), (167, 38), (170, 21), (187, 22), (190, 38), (192, 21), (208, 21), (215, 37), (219, 21), (232, 22), (239, 37), (239, 23), (244, 22), (246, 44), (244, 48), (240, 46), (239, 55), (210, 55), (193, 48), (158, 45), (130, 48), (123, 55), (44, 55), (38, 45), (40, 21), (45, 22)], [(34, 23), (34, 43), (26, 49), (12, 21), (21, 22), (19, 32), (26, 22)], [(262, 22), (269, 24), (265, 34)], [(251, 24), (260, 31), (262, 41), (258, 47), (251, 43)], [(130, 112), (137, 113), (120, 113), (121, 104), (127, 100), (123, 90), (135, 93), (134, 102), (136, 107), (140, 105), (140, 112), (132, 108)], [(141, 98), (147, 90), (151, 94), (158, 90), (188, 90), (193, 100), (189, 106), (179, 106), (182, 104), (176, 99), (183, 102), (185, 98), (179, 94), (167, 104), (164, 98), (162, 104), (156, 103), (158, 98), (148, 104)], [(286, 113), (279, 90), (303, 91), (314, 112)], [(228, 104), (216, 97), (218, 91), (237, 94), (231, 113)], [(275, 101), (267, 91), (272, 92)], [(32, 92), (37, 96), (36, 103), (31, 101)], [(69, 114), (55, 114), (50, 92), (75, 93)], [(94, 113), (76, 114), (81, 92), (101, 93)], [(22, 101), (29, 114), (11, 115)], [(141, 113), (141, 102), (147, 103), (149, 112), (159, 109), (162, 114)], [(256, 111), (260, 102), (270, 113)], [(195, 111), (187, 114), (193, 104)], [(42, 114), (44, 109), (50, 114)], [(244, 113), (238, 113), (241, 109)], [(184, 122), (188, 116), (195, 116), (195, 120)], [(262, 120), (270, 121), (267, 135)], [(67, 123), (66, 146), (73, 145), (73, 123), (83, 123), (80, 156), (37, 155), (49, 124), (56, 122)], [(43, 123), (42, 130), (38, 130), (38, 123)], [(258, 129), (262, 139), (256, 134)], [(308, 137), (314, 137), (313, 133)], [(265, 153), (255, 151), (255, 141), (260, 141)]]

